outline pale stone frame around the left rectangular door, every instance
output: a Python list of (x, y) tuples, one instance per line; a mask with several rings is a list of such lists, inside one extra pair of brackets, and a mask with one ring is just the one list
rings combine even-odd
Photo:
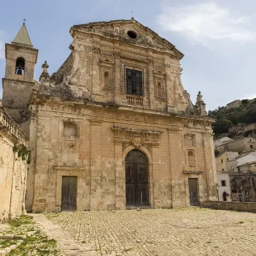
[(83, 186), (82, 186), (82, 174), (84, 168), (76, 167), (55, 167), (56, 170), (56, 202), (55, 211), (61, 211), (61, 186), (62, 176), (76, 176), (77, 177), (77, 193), (76, 193), (76, 211), (83, 211)]

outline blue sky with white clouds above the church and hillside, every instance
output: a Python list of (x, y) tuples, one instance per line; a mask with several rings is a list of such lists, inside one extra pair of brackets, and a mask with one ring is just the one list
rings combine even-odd
[(181, 61), (182, 83), (193, 103), (199, 90), (207, 110), (235, 99), (256, 97), (255, 0), (3, 2), (0, 4), (0, 77), (4, 77), (5, 70), (4, 43), (12, 42), (24, 18), (31, 42), (39, 50), (35, 68), (38, 81), (45, 60), (50, 74), (66, 60), (72, 42), (71, 26), (131, 19), (133, 11), (136, 20), (185, 54)]

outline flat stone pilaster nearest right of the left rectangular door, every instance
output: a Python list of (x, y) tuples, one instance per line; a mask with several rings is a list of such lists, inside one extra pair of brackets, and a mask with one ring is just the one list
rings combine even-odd
[(102, 122), (90, 120), (91, 122), (91, 200), (90, 211), (102, 209)]

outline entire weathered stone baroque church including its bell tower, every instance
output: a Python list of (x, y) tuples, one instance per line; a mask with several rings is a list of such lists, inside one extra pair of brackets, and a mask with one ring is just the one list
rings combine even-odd
[(3, 106), (29, 137), (26, 210), (188, 207), (216, 199), (211, 124), (183, 54), (135, 19), (73, 26), (70, 56), (33, 79), (25, 24), (6, 44)]

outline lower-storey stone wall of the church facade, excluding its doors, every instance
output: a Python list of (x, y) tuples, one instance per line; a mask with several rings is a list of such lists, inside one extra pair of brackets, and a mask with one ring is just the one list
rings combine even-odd
[[(210, 123), (67, 101), (60, 108), (60, 102), (37, 100), (37, 127), (31, 126), (36, 169), (28, 172), (35, 186), (28, 186), (34, 191), (28, 211), (60, 211), (63, 176), (77, 177), (77, 211), (125, 209), (125, 156), (134, 148), (148, 159), (150, 207), (189, 206), (189, 178), (198, 179), (200, 202), (216, 199)], [(195, 166), (189, 166), (190, 151)]]

